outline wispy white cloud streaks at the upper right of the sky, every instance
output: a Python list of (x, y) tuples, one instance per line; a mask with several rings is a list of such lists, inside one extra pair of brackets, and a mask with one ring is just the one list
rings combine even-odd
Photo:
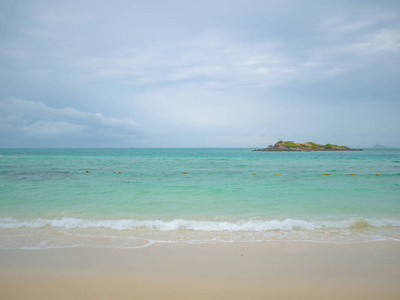
[(351, 76), (347, 78), (358, 83), (366, 73), (375, 82), (387, 81), (397, 73), (393, 66), (400, 61), (400, 26), (393, 19), (395, 14), (386, 13), (369, 18), (338, 15), (323, 21), (315, 35), (318, 43), (308, 49), (300, 64), (301, 81), (317, 83)]

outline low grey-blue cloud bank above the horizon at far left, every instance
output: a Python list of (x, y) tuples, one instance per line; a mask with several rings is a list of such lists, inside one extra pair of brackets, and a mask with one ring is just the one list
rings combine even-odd
[(2, 146), (112, 146), (134, 145), (141, 138), (139, 125), (132, 120), (105, 117), (100, 113), (81, 112), (72, 107), (55, 109), (42, 102), (7, 99), (0, 102)]

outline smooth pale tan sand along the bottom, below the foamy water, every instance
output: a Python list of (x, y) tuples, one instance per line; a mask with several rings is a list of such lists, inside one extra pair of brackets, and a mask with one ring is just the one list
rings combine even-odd
[(0, 299), (400, 299), (400, 243), (0, 250)]

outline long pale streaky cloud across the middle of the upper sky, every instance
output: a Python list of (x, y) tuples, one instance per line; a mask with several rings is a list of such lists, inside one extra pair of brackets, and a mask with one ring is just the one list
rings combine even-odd
[(84, 71), (85, 80), (137, 86), (197, 81), (225, 88), (267, 87), (287, 82), (296, 71), (273, 41), (244, 42), (222, 32), (177, 39), (82, 56), (73, 65)]

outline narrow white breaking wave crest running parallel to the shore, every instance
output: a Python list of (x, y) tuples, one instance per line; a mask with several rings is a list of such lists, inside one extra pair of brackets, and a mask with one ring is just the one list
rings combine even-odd
[(249, 219), (236, 222), (228, 221), (197, 221), (175, 219), (172, 221), (163, 220), (91, 220), (79, 218), (59, 219), (30, 219), (19, 220), (11, 217), (0, 218), (0, 228), (41, 228), (55, 227), (64, 229), (89, 229), (105, 228), (112, 230), (155, 230), (155, 231), (177, 231), (192, 230), (204, 232), (264, 232), (264, 231), (297, 231), (297, 230), (318, 230), (318, 229), (355, 229), (366, 230), (370, 227), (400, 227), (400, 220), (394, 219), (348, 219), (338, 221), (306, 221), (295, 219), (284, 220), (259, 220)]

